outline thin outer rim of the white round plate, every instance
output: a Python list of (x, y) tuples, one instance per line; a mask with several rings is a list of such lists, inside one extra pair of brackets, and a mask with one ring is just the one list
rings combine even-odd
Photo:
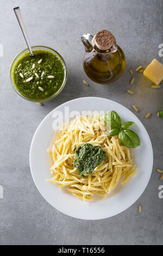
[(60, 107), (66, 105), (67, 103), (70, 103), (70, 102), (72, 102), (72, 101), (77, 101), (77, 100), (79, 100), (79, 99), (80, 99), (80, 100), (82, 100), (82, 99), (92, 99), (92, 98), (93, 98), (93, 99), (101, 99), (101, 100), (102, 100), (102, 99), (104, 99), (104, 100), (109, 100), (109, 101), (111, 101), (111, 102), (115, 102), (115, 103), (116, 103), (117, 105), (119, 105), (119, 106), (123, 106), (121, 103), (118, 103), (118, 102), (116, 102), (116, 101), (114, 101), (114, 100), (110, 100), (110, 99), (107, 99), (107, 98), (104, 98), (104, 97), (96, 97), (96, 96), (78, 97), (78, 98), (75, 98), (75, 99), (66, 101), (66, 102), (62, 103), (61, 105), (59, 105), (59, 106), (55, 107), (54, 109), (52, 109), (52, 111), (50, 111), (50, 112), (41, 120), (40, 124), (37, 126), (37, 128), (36, 128), (36, 130), (35, 130), (35, 132), (34, 132), (34, 135), (33, 135), (33, 138), (32, 138), (32, 142), (31, 142), (31, 144), (30, 144), (30, 150), (29, 150), (29, 167), (30, 167), (30, 173), (32, 174), (32, 178), (33, 178), (34, 184), (35, 184), (37, 190), (39, 191), (39, 193), (41, 194), (41, 196), (46, 200), (46, 202), (47, 202), (48, 204), (50, 204), (51, 206), (53, 206), (54, 209), (58, 210), (59, 212), (62, 212), (62, 214), (65, 214), (65, 215), (70, 216), (70, 217), (73, 217), (73, 218), (77, 218), (77, 219), (79, 219), (79, 220), (104, 220), (105, 218), (110, 218), (110, 217), (116, 216), (116, 215), (118, 215), (118, 214), (121, 214), (121, 212), (123, 212), (123, 211), (127, 210), (128, 208), (130, 208), (130, 206), (133, 205), (133, 204), (140, 198), (140, 196), (143, 194), (143, 192), (146, 190), (146, 187), (147, 187), (147, 185), (148, 185), (148, 183), (149, 183), (149, 180), (151, 179), (152, 170), (153, 170), (153, 147), (152, 147), (151, 139), (150, 139), (150, 137), (149, 137), (149, 135), (148, 135), (148, 132), (147, 132), (147, 130), (146, 130), (146, 127), (143, 125), (143, 123), (141, 122), (141, 120), (135, 115), (135, 113), (133, 113), (133, 112), (132, 112), (130, 109), (128, 109), (127, 107), (123, 106), (124, 108), (127, 109), (127, 111), (131, 112), (131, 113), (135, 116), (135, 118), (136, 118), (137, 120), (139, 120), (140, 123), (142, 124), (143, 128), (145, 129), (145, 131), (146, 131), (146, 133), (147, 133), (148, 142), (150, 143), (150, 145), (151, 145), (151, 150), (152, 150), (152, 151), (151, 151), (151, 153), (152, 153), (152, 164), (151, 164), (151, 170), (150, 170), (150, 173), (149, 173), (149, 176), (148, 176), (148, 182), (147, 182), (146, 186), (143, 188), (143, 190), (139, 193), (139, 195), (137, 196), (137, 198), (136, 198), (136, 199), (133, 199), (132, 202), (127, 206), (127, 208), (124, 207), (123, 210), (120, 210), (120, 211), (118, 211), (117, 213), (115, 213), (115, 214), (113, 214), (113, 215), (111, 215), (111, 216), (99, 217), (99, 218), (97, 218), (97, 217), (96, 217), (96, 218), (81, 218), (81, 217), (74, 216), (73, 214), (70, 215), (70, 214), (67, 214), (67, 213), (64, 212), (64, 211), (61, 211), (61, 210), (58, 209), (56, 206), (52, 205), (52, 203), (48, 202), (48, 199), (46, 199), (45, 196), (43, 196), (42, 192), (40, 191), (40, 188), (39, 188), (38, 185), (36, 184), (36, 181), (35, 181), (35, 178), (34, 178), (34, 175), (33, 175), (33, 171), (32, 171), (32, 166), (31, 166), (31, 165), (32, 165), (32, 164), (31, 164), (31, 151), (32, 151), (32, 147), (33, 147), (33, 143), (34, 143), (34, 139), (35, 139), (36, 133), (37, 133), (37, 131), (39, 130), (39, 127), (40, 127), (40, 126), (42, 125), (42, 123), (45, 121), (45, 119), (47, 119), (47, 118), (49, 117), (49, 115), (51, 115), (54, 111), (56, 111), (57, 108), (60, 108)]

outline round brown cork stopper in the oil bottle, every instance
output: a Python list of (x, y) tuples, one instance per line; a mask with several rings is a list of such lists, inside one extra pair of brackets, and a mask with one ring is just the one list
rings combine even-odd
[(114, 35), (110, 31), (103, 29), (98, 31), (93, 38), (93, 46), (97, 46), (100, 50), (108, 50), (116, 42)]

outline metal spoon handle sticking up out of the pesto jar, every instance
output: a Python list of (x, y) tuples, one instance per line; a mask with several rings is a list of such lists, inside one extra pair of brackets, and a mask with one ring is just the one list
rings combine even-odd
[(34, 54), (33, 54), (32, 48), (31, 48), (30, 43), (29, 43), (26, 27), (25, 27), (23, 19), (22, 19), (20, 8), (19, 7), (15, 7), (14, 8), (14, 12), (15, 12), (15, 15), (17, 17), (18, 23), (19, 23), (19, 25), (21, 27), (24, 39), (26, 40), (26, 44), (28, 46), (28, 49), (29, 49), (29, 52), (30, 52), (30, 56), (33, 57)]

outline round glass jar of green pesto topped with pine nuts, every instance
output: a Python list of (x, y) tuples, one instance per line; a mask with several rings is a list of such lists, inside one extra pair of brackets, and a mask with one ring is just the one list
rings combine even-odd
[(46, 101), (57, 96), (67, 80), (67, 68), (60, 54), (50, 47), (33, 46), (16, 56), (10, 68), (15, 92), (30, 101)]

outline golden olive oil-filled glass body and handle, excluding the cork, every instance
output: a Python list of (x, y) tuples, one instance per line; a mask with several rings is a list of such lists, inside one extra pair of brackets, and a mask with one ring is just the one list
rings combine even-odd
[[(88, 36), (89, 35), (89, 36)], [(89, 39), (88, 39), (89, 38)], [(114, 45), (113, 49), (101, 50), (92, 45), (93, 36), (82, 36), (85, 46), (83, 68), (86, 75), (94, 82), (109, 84), (120, 78), (126, 68), (126, 57), (120, 46)]]

